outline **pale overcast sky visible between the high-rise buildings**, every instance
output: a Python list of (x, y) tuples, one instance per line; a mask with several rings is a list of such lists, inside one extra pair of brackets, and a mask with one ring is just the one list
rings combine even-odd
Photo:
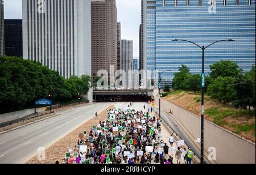
[[(133, 40), (133, 56), (139, 56), (141, 0), (115, 0), (117, 20), (122, 25), (122, 39)], [(22, 19), (22, 0), (4, 0), (5, 19)]]

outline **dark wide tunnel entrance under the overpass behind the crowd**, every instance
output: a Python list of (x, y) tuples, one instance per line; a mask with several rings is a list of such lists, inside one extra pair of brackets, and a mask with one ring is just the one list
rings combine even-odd
[(94, 102), (147, 102), (152, 97), (147, 95), (93, 95)]

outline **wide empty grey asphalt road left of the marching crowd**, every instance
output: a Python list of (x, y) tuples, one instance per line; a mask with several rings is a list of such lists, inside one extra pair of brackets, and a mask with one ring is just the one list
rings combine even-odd
[(96, 103), (61, 110), (56, 117), (0, 134), (0, 163), (24, 163), (36, 155), (39, 147), (51, 146), (110, 104)]

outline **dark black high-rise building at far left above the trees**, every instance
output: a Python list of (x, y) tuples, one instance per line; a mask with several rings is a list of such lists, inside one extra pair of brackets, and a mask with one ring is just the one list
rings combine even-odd
[(5, 19), (5, 54), (23, 57), (22, 19)]

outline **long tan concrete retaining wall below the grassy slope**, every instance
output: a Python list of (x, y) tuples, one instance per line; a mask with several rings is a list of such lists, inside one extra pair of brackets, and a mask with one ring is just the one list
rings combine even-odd
[[(159, 105), (159, 97), (155, 96), (155, 103)], [(194, 138), (200, 138), (201, 118), (170, 101), (161, 99), (161, 107), (172, 110), (174, 116)], [(237, 136), (214, 123), (204, 121), (204, 146), (216, 148), (216, 162), (220, 164), (255, 164), (255, 143)]]

